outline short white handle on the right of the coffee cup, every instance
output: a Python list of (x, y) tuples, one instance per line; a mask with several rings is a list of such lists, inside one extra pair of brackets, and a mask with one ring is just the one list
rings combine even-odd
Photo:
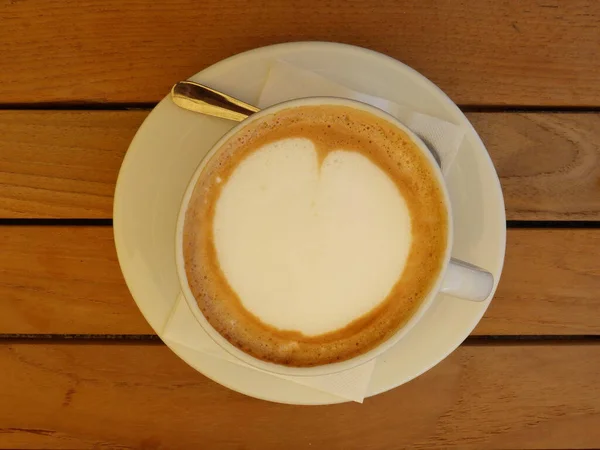
[(494, 277), (487, 270), (459, 259), (450, 259), (440, 292), (465, 300), (482, 302), (494, 287)]

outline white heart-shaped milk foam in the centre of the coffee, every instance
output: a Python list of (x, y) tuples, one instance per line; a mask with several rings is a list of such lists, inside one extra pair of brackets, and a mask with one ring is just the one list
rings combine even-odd
[(343, 149), (271, 142), (225, 181), (213, 221), (221, 270), (243, 306), (279, 329), (319, 335), (380, 304), (411, 248), (408, 206), (389, 176)]

